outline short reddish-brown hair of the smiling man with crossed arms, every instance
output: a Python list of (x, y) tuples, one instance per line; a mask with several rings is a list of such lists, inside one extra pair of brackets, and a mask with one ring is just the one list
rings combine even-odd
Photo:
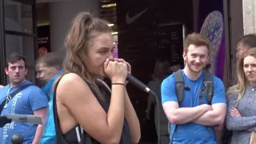
[(188, 47), (190, 45), (194, 46), (206, 46), (208, 49), (208, 54), (210, 54), (210, 41), (203, 36), (202, 34), (198, 33), (192, 33), (189, 34), (186, 39), (185, 39), (185, 44), (184, 44), (184, 51), (187, 53)]

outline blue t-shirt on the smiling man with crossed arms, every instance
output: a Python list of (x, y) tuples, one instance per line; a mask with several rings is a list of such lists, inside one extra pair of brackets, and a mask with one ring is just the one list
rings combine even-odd
[[(193, 81), (186, 77), (182, 70), (182, 75), (186, 86), (190, 87), (190, 90), (184, 90), (184, 99), (179, 104), (179, 107), (194, 107), (199, 105), (199, 90), (203, 86), (203, 73), (201, 76)], [(225, 87), (221, 79), (214, 77), (214, 96), (212, 99), (212, 105), (215, 103), (226, 103), (225, 98)], [(178, 102), (177, 94), (175, 92), (175, 78), (171, 74), (162, 82), (162, 103), (165, 102)], [(203, 102), (207, 103), (204, 92), (202, 92)], [(175, 124), (170, 126), (170, 138), (174, 134)], [(214, 134), (214, 127), (202, 126), (198, 123), (188, 122), (186, 124), (181, 124), (177, 126), (176, 132), (173, 138), (173, 144), (217, 144)]]

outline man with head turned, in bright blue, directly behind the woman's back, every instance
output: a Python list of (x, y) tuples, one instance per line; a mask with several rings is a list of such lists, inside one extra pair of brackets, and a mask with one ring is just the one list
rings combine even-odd
[(41, 58), (38, 58), (36, 63), (37, 78), (43, 83), (42, 90), (48, 97), (48, 114), (44, 126), (44, 131), (40, 144), (55, 144), (56, 132), (54, 125), (54, 110), (53, 110), (53, 98), (54, 90), (53, 85), (56, 80), (62, 74), (62, 58), (57, 57), (54, 53), (44, 54)]

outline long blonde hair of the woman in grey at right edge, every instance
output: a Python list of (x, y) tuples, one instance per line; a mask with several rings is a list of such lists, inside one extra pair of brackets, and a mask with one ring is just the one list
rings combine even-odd
[(246, 91), (246, 86), (249, 85), (249, 82), (246, 79), (246, 74), (244, 73), (244, 70), (243, 70), (243, 64), (244, 64), (243, 61), (247, 56), (252, 56), (252, 57), (256, 58), (256, 47), (247, 50), (246, 53), (243, 54), (242, 57), (239, 58), (238, 62), (237, 62), (238, 83), (235, 86), (231, 86), (230, 89), (228, 90), (228, 94), (227, 94), (227, 95), (238, 94), (237, 106), (238, 106), (239, 100), (242, 98), (242, 95)]

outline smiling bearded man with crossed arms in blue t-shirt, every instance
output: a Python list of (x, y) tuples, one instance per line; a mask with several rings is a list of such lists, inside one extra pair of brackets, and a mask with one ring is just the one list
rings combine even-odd
[(209, 54), (210, 42), (201, 34), (189, 34), (185, 41), (185, 68), (182, 70), (185, 85), (189, 88), (184, 90), (182, 102), (178, 103), (174, 75), (171, 74), (162, 82), (162, 106), (171, 123), (170, 141), (173, 144), (217, 144), (214, 126), (222, 125), (226, 115), (225, 87), (219, 78), (213, 78), (211, 105), (207, 104), (204, 93), (204, 104), (199, 104), (203, 69)]

